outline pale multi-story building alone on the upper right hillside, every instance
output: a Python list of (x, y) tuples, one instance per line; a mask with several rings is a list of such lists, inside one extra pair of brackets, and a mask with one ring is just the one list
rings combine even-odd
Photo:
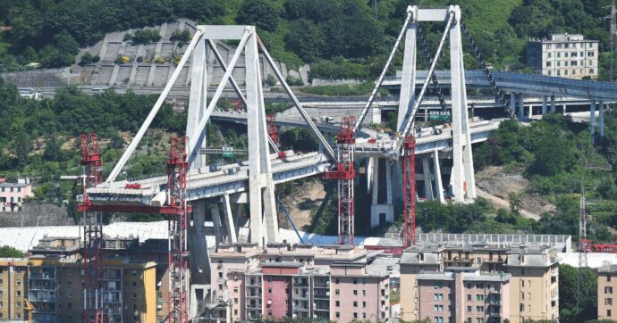
[(554, 34), (551, 39), (530, 39), (527, 61), (534, 71), (569, 79), (597, 78), (598, 41), (583, 35)]

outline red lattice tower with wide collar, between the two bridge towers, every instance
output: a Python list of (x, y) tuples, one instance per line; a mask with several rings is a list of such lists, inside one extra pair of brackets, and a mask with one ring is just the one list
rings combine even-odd
[(338, 179), (338, 218), (339, 244), (353, 244), (354, 238), (354, 191), (353, 182), (356, 177), (353, 151), (356, 139), (353, 134), (353, 125), (356, 118), (342, 117), (341, 130), (336, 139), (337, 162), (336, 168), (325, 172), (324, 178)]

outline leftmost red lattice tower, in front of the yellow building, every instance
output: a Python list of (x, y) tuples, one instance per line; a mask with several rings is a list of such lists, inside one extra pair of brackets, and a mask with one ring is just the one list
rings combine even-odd
[(81, 135), (81, 165), (84, 168), (83, 202), (79, 211), (83, 211), (83, 259), (81, 268), (84, 272), (84, 323), (102, 323), (103, 320), (103, 213), (90, 211), (91, 204), (87, 189), (103, 181), (103, 161), (98, 148), (96, 133)]

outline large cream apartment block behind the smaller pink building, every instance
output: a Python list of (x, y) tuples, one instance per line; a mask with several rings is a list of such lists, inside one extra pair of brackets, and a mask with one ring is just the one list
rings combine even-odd
[[(557, 261), (557, 248), (550, 244), (416, 244), (406, 249), (401, 257), (401, 319), (426, 319), (420, 316), (418, 277), (428, 272), (444, 272), (449, 268), (478, 269), (480, 274), (489, 276), (510, 275), (510, 286), (507, 287), (509, 302), (503, 302), (510, 308), (500, 311), (500, 315), (508, 315), (501, 319), (510, 319), (511, 322), (558, 319)], [(505, 299), (503, 295), (500, 297)], [(484, 306), (486, 313), (492, 313), (486, 305), (478, 306)], [(454, 315), (444, 314), (443, 317), (454, 318)], [(491, 318), (472, 319), (475, 319), (473, 322), (487, 322)]]

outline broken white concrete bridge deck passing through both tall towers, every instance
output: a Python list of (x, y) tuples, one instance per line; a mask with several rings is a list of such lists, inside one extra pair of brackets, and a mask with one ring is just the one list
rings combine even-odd
[[(216, 117), (217, 116), (217, 117)], [(232, 120), (234, 122), (246, 122), (244, 114), (230, 114), (216, 112), (212, 117), (216, 120)], [(470, 123), (472, 143), (485, 141), (494, 129), (499, 127), (501, 120), (476, 120)], [(278, 121), (277, 121), (278, 122)], [(300, 120), (287, 120), (290, 126), (296, 126)], [(336, 125), (320, 125), (320, 128), (337, 128)], [(371, 133), (372, 131), (372, 133)], [(379, 137), (374, 130), (364, 130), (363, 138), (358, 139), (356, 155), (358, 157), (384, 157), (389, 156), (393, 149), (394, 141), (389, 136), (379, 138), (375, 143), (369, 143), (368, 137)], [(435, 128), (423, 128), (416, 132), (416, 154), (434, 153), (435, 151), (448, 151), (452, 149), (452, 133), (449, 128), (443, 126)], [(324, 153), (293, 153), (287, 152), (284, 159), (271, 155), (273, 179), (275, 184), (287, 181), (307, 178), (321, 174), (331, 167)], [(98, 205), (132, 205), (132, 206), (161, 206), (165, 203), (165, 186), (167, 178), (157, 176), (153, 178), (131, 181), (139, 184), (139, 189), (127, 189), (129, 181), (116, 181), (110, 184), (102, 184), (89, 188), (89, 198)], [(221, 166), (216, 170), (200, 168), (191, 170), (187, 176), (187, 200), (196, 201), (216, 196), (232, 195), (246, 192), (249, 184), (249, 163), (236, 162)]]

